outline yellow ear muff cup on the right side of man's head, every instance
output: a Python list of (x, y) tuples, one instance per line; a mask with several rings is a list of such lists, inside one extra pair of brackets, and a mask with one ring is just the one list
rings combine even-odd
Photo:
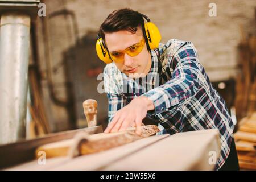
[(151, 42), (150, 42), (150, 40), (147, 39), (150, 49), (158, 48), (160, 40), (161, 40), (161, 34), (160, 34), (158, 27), (156, 27), (156, 25), (152, 22), (145, 23), (144, 27), (145, 27), (145, 32), (146, 32), (147, 38), (149, 36), (148, 32), (150, 34)]

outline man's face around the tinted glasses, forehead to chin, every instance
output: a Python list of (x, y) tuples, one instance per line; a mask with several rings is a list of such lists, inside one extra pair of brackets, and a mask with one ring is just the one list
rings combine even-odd
[[(105, 34), (105, 42), (109, 52), (125, 50), (142, 39), (143, 32), (141, 27), (138, 27), (135, 34), (126, 30)], [(151, 55), (145, 43), (142, 51), (137, 56), (132, 57), (125, 53), (122, 61), (114, 61), (114, 63), (121, 72), (129, 77), (143, 77), (150, 71)]]

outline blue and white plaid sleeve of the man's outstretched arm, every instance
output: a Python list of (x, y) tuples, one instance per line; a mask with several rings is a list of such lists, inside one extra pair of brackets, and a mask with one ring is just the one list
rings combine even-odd
[(200, 84), (201, 66), (192, 43), (186, 42), (167, 57), (171, 59), (167, 69), (174, 70), (171, 80), (143, 94), (154, 102), (155, 114), (182, 105), (196, 94)]

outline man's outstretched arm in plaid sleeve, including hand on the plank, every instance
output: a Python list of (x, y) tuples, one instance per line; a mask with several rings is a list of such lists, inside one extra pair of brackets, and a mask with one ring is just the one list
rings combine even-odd
[(175, 109), (185, 100), (193, 97), (200, 84), (200, 63), (197, 59), (195, 47), (192, 44), (184, 44), (172, 57), (170, 69), (172, 79), (165, 84), (134, 98), (128, 105), (118, 110), (110, 125), (105, 130), (108, 132), (127, 129), (130, 122), (136, 123), (137, 133), (141, 131), (142, 119), (147, 111), (154, 110), (158, 114), (167, 109)]

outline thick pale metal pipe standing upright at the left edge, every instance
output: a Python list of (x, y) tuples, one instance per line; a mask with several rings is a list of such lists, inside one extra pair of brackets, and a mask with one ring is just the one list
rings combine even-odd
[(7, 12), (0, 21), (0, 144), (26, 137), (30, 16)]

